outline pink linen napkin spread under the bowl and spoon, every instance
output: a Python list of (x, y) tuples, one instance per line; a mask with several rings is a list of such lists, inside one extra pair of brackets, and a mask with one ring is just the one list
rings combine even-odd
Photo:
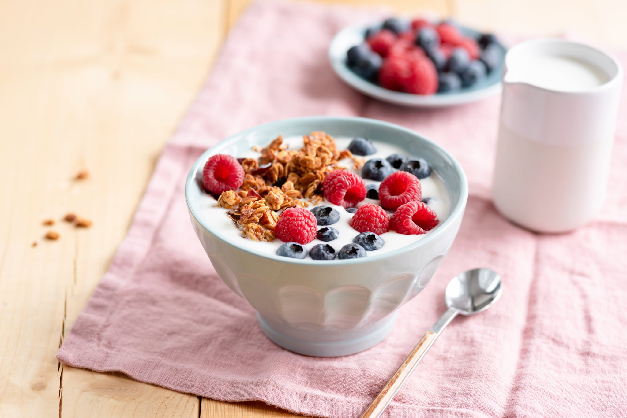
[[(250, 6), (57, 357), (213, 399), (357, 417), (445, 310), (448, 280), (489, 266), (502, 273), (502, 299), (453, 321), (385, 416), (627, 416), (627, 120), (619, 121), (601, 216), (571, 234), (524, 231), (490, 202), (498, 97), (412, 110), (369, 100), (332, 73), (330, 39), (369, 16), (307, 3)], [(618, 56), (627, 64), (626, 53)], [(187, 215), (184, 180), (201, 152), (258, 123), (302, 115), (413, 128), (450, 150), (470, 182), (460, 233), (435, 278), (401, 308), (384, 342), (348, 357), (305, 357), (271, 343), (254, 310), (216, 275)], [(581, 198), (596, 196), (582, 190)]]

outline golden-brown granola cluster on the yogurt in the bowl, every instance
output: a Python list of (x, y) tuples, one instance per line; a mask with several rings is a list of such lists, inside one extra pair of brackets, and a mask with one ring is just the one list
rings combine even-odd
[(303, 143), (302, 149), (290, 150), (280, 135), (263, 149), (255, 147), (261, 153), (258, 159), (239, 160), (243, 184), (238, 191), (222, 192), (218, 206), (231, 209), (227, 216), (246, 238), (274, 241), (280, 211), (322, 202), (327, 173), (345, 169), (339, 160), (352, 158), (354, 165), (363, 164), (349, 150), (338, 151), (335, 139), (324, 132), (304, 135)]

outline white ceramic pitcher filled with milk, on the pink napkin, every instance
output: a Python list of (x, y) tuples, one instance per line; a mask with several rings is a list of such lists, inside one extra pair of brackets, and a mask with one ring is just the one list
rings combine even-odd
[(608, 185), (622, 83), (620, 63), (584, 44), (536, 39), (508, 51), (493, 179), (503, 216), (542, 233), (593, 219)]

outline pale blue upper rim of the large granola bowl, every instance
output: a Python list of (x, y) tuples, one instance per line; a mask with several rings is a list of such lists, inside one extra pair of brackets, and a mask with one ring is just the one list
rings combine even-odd
[[(389, 251), (388, 253), (374, 254), (374, 255), (369, 254), (368, 256), (362, 257), (362, 258), (341, 259), (341, 260), (340, 259), (314, 260), (311, 258), (295, 259), (295, 258), (281, 257), (276, 254), (258, 253), (250, 248), (246, 248), (246, 246), (243, 246), (243, 245), (239, 246), (237, 244), (231, 243), (226, 238), (216, 233), (210, 226), (208, 226), (208, 224), (206, 224), (206, 222), (203, 221), (203, 218), (199, 216), (199, 214), (196, 213), (196, 211), (194, 210), (194, 207), (192, 207), (193, 205), (190, 204), (192, 191), (194, 189), (196, 190), (199, 189), (198, 182), (196, 181), (196, 173), (204, 165), (204, 163), (209, 158), (209, 156), (216, 153), (214, 151), (216, 148), (224, 147), (225, 145), (230, 145), (234, 142), (237, 142), (238, 140), (241, 139), (241, 137), (245, 137), (249, 133), (255, 132), (261, 127), (272, 128), (272, 127), (280, 127), (280, 125), (282, 125), (283, 123), (298, 123), (298, 122), (309, 122), (309, 123), (314, 122), (315, 123), (315, 121), (319, 121), (320, 123), (324, 123), (326, 121), (333, 121), (333, 122), (356, 122), (356, 123), (361, 123), (365, 125), (379, 125), (379, 127), (396, 130), (397, 132), (398, 131), (404, 132), (413, 137), (417, 137), (420, 140), (423, 140), (424, 142), (429, 144), (431, 147), (434, 147), (436, 150), (441, 152), (443, 155), (445, 155), (447, 159), (450, 160), (451, 165), (453, 165), (453, 168), (455, 169), (455, 172), (460, 179), (460, 198), (456, 202), (455, 206), (451, 207), (451, 211), (446, 217), (445, 221), (442, 222), (440, 225), (438, 225), (438, 227), (432, 233), (429, 233), (428, 236), (426, 236), (425, 238), (419, 239), (415, 243), (406, 245), (394, 251)], [(251, 254), (253, 256), (258, 256), (258, 257), (265, 258), (265, 259), (272, 260), (272, 261), (279, 261), (280, 263), (301, 264), (303, 266), (340, 266), (340, 265), (345, 265), (345, 264), (373, 263), (373, 262), (381, 261), (382, 259), (393, 258), (394, 256), (408, 253), (409, 251), (413, 251), (414, 249), (427, 246), (429, 243), (431, 243), (431, 241), (434, 241), (438, 236), (445, 234), (446, 231), (448, 231), (451, 227), (455, 226), (456, 219), (460, 216), (463, 216), (463, 212), (465, 211), (467, 200), (468, 200), (468, 180), (466, 179), (466, 174), (463, 168), (461, 167), (460, 163), (455, 159), (455, 157), (453, 157), (453, 155), (450, 154), (450, 152), (448, 152), (446, 149), (436, 144), (429, 138), (426, 138), (423, 135), (420, 135), (418, 132), (415, 132), (414, 130), (411, 130), (409, 128), (396, 125), (396, 123), (383, 122), (381, 120), (376, 120), (376, 119), (371, 119), (371, 118), (362, 118), (362, 117), (335, 117), (335, 116), (322, 116), (322, 115), (321, 116), (307, 116), (307, 117), (280, 119), (280, 120), (275, 120), (273, 122), (267, 122), (267, 123), (262, 123), (261, 125), (256, 125), (255, 127), (251, 127), (246, 130), (240, 131), (238, 133), (235, 133), (234, 135), (229, 136), (228, 138), (225, 138), (224, 140), (221, 140), (220, 142), (218, 142), (218, 144), (213, 145), (213, 147), (203, 152), (203, 154), (201, 154), (200, 157), (198, 157), (198, 159), (196, 160), (196, 162), (194, 162), (194, 164), (192, 165), (191, 169), (189, 170), (189, 174), (187, 174), (187, 179), (185, 182), (185, 201), (187, 203), (187, 209), (189, 213), (191, 214), (192, 217), (194, 217), (194, 220), (198, 222), (200, 226), (202, 226), (209, 234), (214, 236), (216, 239), (218, 239), (224, 244), (227, 244), (231, 248), (238, 249), (240, 251)]]

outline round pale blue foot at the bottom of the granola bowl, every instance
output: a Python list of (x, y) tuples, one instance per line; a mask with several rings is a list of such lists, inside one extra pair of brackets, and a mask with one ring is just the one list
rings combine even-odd
[[(294, 330), (290, 324), (268, 321), (257, 313), (261, 331), (279, 347), (314, 357), (339, 357), (362, 352), (382, 342), (394, 328), (396, 312), (357, 330)], [(270, 325), (271, 324), (271, 325)]]

